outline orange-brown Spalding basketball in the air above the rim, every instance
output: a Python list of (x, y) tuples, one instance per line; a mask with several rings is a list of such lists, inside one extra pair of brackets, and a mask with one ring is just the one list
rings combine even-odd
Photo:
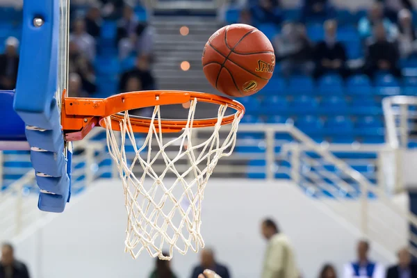
[(274, 72), (270, 40), (247, 24), (231, 24), (208, 39), (202, 55), (204, 74), (214, 88), (231, 97), (259, 92)]

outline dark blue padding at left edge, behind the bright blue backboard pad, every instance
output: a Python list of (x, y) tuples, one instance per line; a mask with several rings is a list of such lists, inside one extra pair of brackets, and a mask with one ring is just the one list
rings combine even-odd
[(25, 140), (24, 122), (13, 110), (13, 91), (0, 90), (0, 140)]

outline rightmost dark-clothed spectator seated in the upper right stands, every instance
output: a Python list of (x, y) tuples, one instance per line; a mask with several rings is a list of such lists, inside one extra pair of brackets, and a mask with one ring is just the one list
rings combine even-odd
[(393, 42), (386, 39), (384, 25), (376, 24), (374, 27), (375, 42), (368, 47), (366, 55), (365, 73), (373, 77), (379, 71), (388, 72), (394, 76), (401, 76), (397, 66), (399, 54)]

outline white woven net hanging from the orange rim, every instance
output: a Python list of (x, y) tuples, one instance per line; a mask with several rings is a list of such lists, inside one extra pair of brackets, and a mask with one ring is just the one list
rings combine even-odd
[[(120, 132), (111, 129), (110, 117), (105, 119), (108, 150), (122, 179), (128, 216), (125, 252), (134, 259), (145, 250), (153, 257), (169, 260), (174, 250), (186, 254), (189, 249), (198, 252), (204, 247), (200, 230), (204, 188), (219, 159), (233, 152), (241, 114), (236, 113), (234, 121), (222, 128), (227, 105), (220, 106), (213, 133), (194, 145), (196, 105), (197, 99), (191, 101), (186, 127), (177, 138), (165, 139), (167, 142), (158, 128), (160, 106), (154, 108), (145, 135), (132, 132), (127, 111), (119, 122)], [(220, 129), (229, 131), (225, 138), (220, 138)], [(126, 153), (127, 147), (133, 156)], [(167, 175), (175, 178), (164, 181)]]

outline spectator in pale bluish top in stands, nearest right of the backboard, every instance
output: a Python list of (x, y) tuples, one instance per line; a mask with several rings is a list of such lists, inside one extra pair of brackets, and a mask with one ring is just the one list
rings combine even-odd
[(96, 42), (87, 31), (85, 31), (84, 19), (76, 19), (74, 22), (74, 31), (70, 34), (70, 40), (74, 42), (81, 54), (90, 61), (95, 59)]

